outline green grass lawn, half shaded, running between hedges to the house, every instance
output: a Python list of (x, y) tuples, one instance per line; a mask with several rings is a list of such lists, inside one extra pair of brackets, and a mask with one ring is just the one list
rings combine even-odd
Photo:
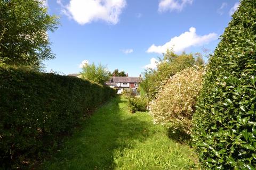
[(98, 109), (42, 169), (193, 169), (188, 146), (169, 139), (148, 113), (129, 113), (126, 103), (115, 98)]

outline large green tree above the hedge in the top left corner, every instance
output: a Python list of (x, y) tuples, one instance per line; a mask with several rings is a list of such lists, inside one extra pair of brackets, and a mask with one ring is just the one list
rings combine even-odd
[(54, 58), (47, 31), (59, 24), (47, 13), (43, 0), (3, 0), (0, 2), (0, 62), (37, 68)]

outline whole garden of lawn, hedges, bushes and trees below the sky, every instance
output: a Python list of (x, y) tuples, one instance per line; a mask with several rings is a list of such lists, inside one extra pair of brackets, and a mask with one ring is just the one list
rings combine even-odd
[(43, 72), (57, 16), (0, 2), (0, 169), (256, 169), (255, 9), (241, 1), (207, 62), (168, 49), (117, 96), (101, 64)]

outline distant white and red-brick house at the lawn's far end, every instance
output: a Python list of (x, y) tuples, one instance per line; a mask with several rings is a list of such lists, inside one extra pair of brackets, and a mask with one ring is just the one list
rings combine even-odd
[(105, 82), (105, 86), (117, 89), (117, 94), (122, 94), (123, 91), (137, 92), (141, 83), (140, 77), (111, 77), (109, 81)]

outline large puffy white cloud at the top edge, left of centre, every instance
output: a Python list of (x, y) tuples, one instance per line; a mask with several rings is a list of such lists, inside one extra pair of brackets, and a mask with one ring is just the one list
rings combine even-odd
[(126, 6), (126, 0), (70, 0), (67, 5), (57, 0), (57, 3), (62, 7), (63, 14), (81, 25), (99, 20), (117, 24)]

